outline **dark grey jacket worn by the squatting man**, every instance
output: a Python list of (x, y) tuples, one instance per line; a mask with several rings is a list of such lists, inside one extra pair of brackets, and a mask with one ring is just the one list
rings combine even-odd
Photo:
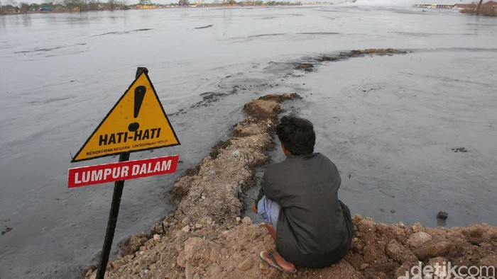
[(323, 268), (342, 259), (354, 236), (349, 208), (337, 196), (337, 166), (315, 153), (267, 166), (261, 190), (281, 206), (276, 249), (296, 266)]

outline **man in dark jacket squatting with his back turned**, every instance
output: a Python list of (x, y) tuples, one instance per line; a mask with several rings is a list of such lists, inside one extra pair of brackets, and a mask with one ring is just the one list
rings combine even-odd
[(349, 252), (354, 236), (349, 207), (338, 199), (337, 166), (314, 153), (316, 135), (309, 120), (284, 116), (276, 134), (286, 159), (266, 167), (252, 208), (276, 251), (259, 256), (286, 273), (296, 273), (296, 266), (324, 268)]

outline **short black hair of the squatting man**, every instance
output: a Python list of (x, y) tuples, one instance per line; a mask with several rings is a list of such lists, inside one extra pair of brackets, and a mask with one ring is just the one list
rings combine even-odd
[(316, 134), (309, 120), (295, 116), (283, 116), (276, 126), (276, 135), (293, 155), (307, 155), (314, 152)]

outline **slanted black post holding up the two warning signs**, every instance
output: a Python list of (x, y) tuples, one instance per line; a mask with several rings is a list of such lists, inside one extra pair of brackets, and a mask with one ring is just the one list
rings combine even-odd
[[(129, 152), (121, 153), (119, 161), (129, 161)], [(119, 205), (121, 205), (121, 195), (123, 194), (124, 180), (114, 183), (114, 195), (112, 195), (111, 212), (109, 213), (109, 222), (107, 223), (107, 232), (105, 233), (104, 248), (100, 256), (99, 271), (97, 272), (98, 279), (104, 279), (109, 254), (111, 253), (112, 240), (114, 240), (114, 232), (116, 231), (117, 215), (119, 215)]]

